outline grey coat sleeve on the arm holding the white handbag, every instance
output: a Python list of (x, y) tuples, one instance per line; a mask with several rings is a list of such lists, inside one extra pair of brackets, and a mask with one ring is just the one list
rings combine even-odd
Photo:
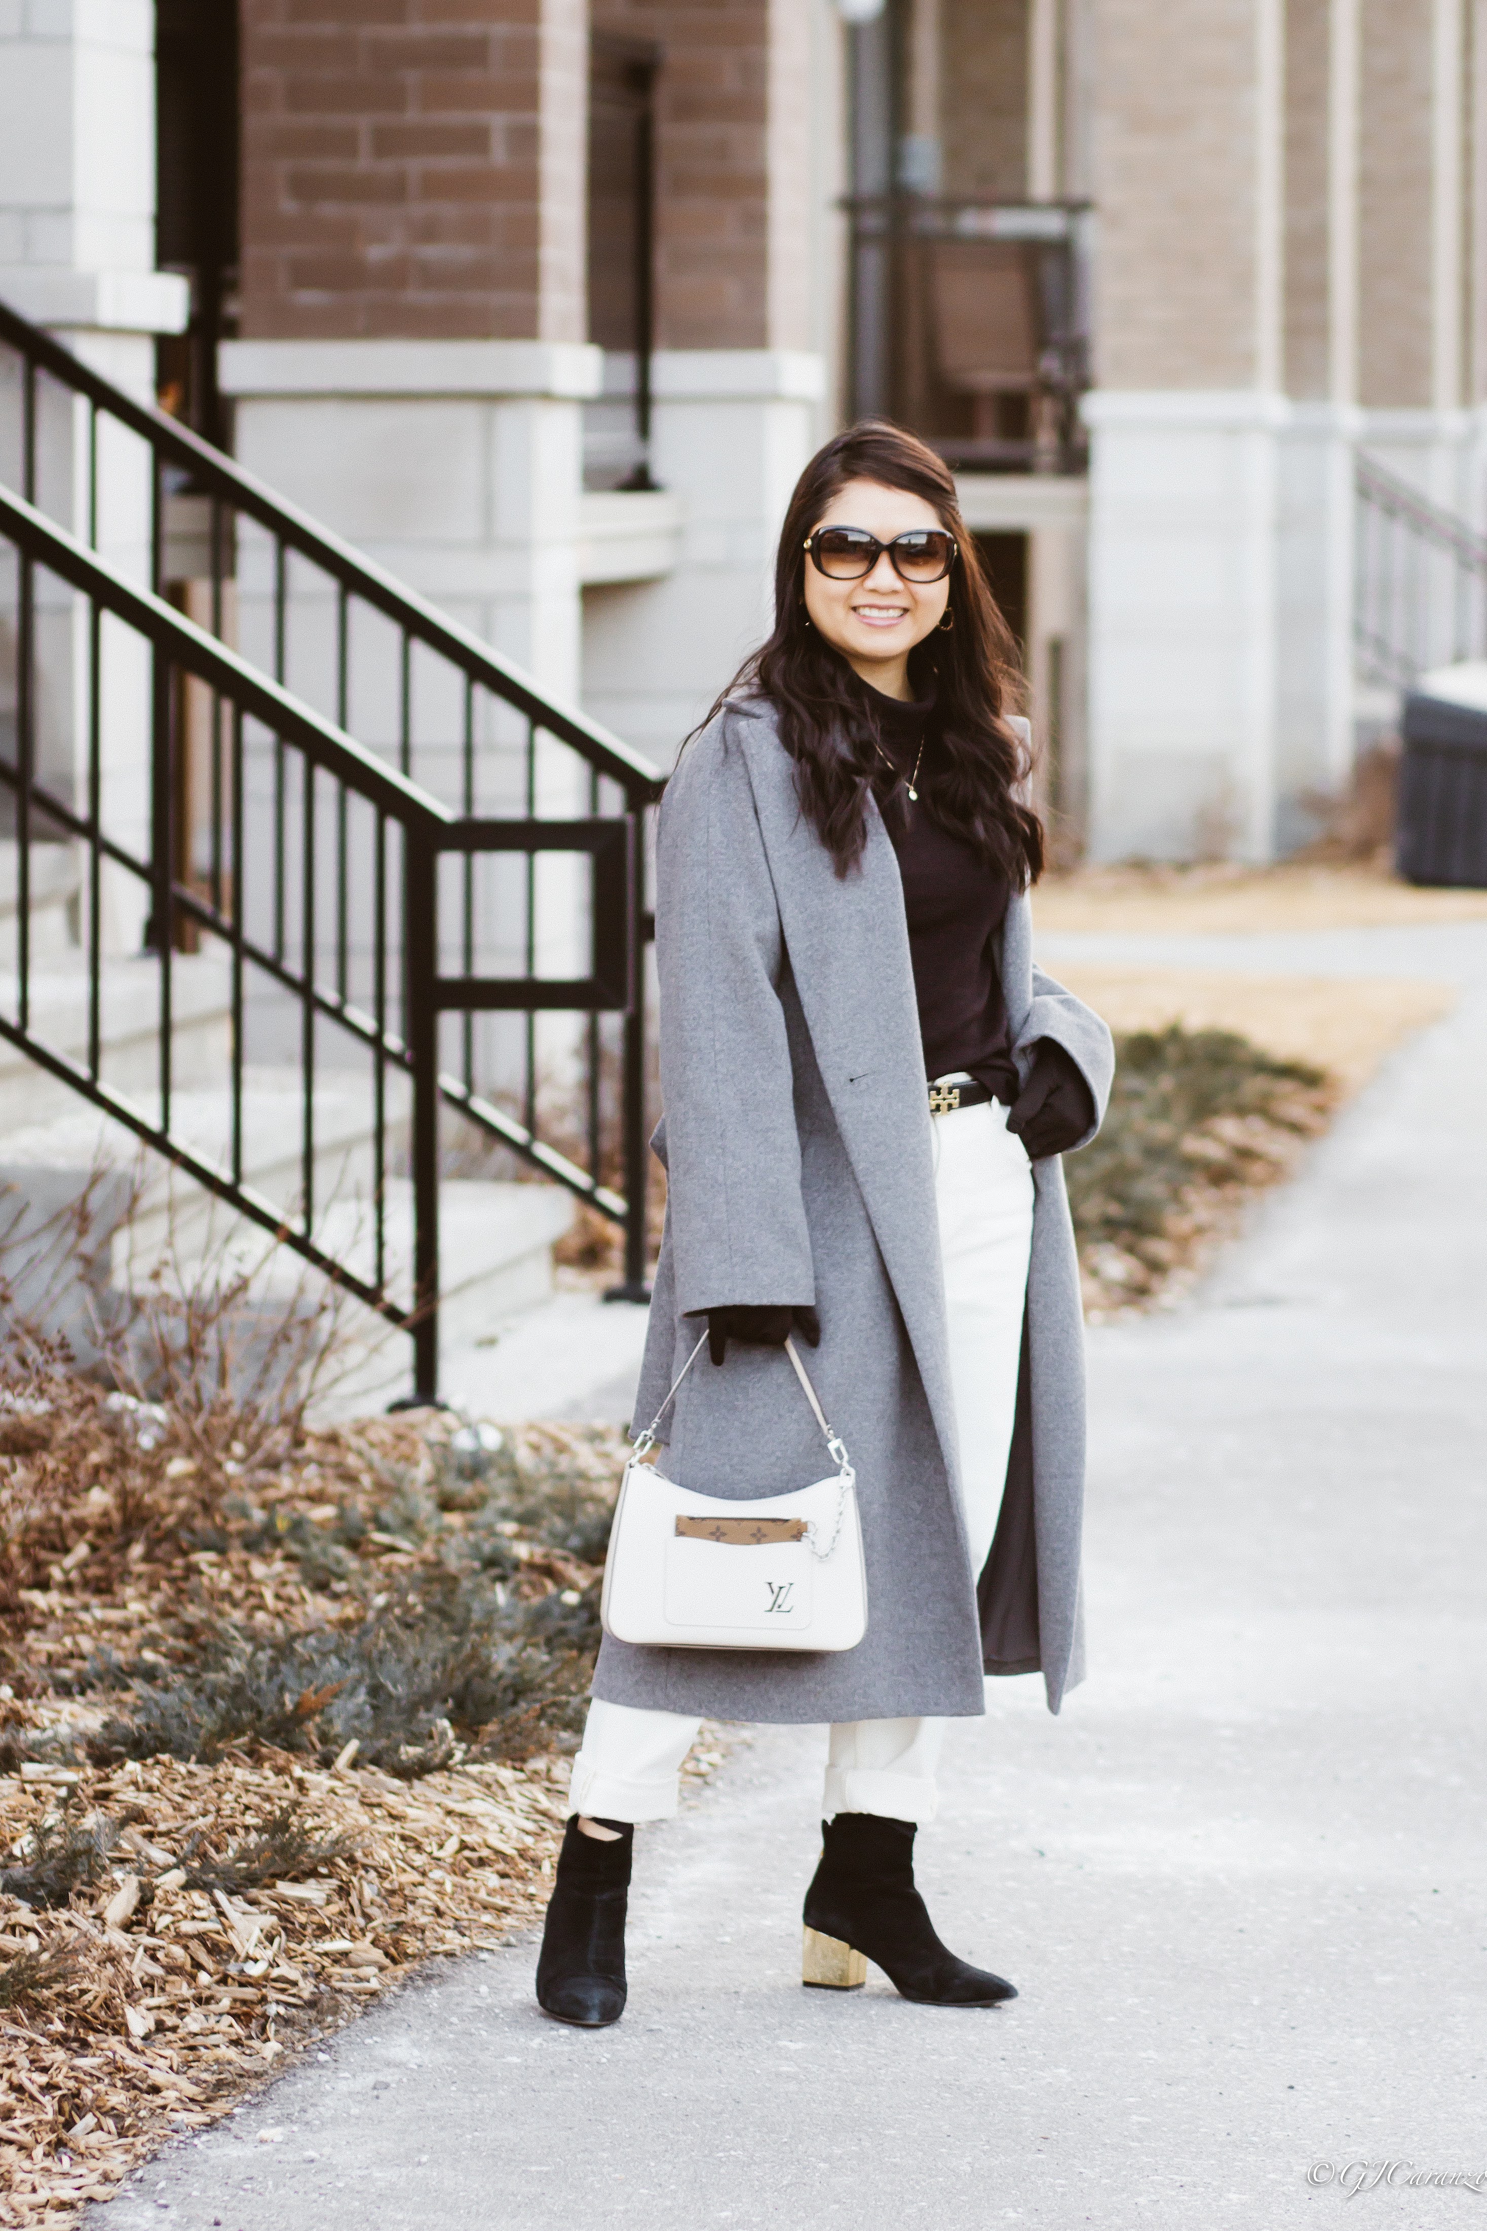
[(789, 966), (742, 750), (682, 754), (655, 863), (676, 1312), (816, 1301), (780, 984)]

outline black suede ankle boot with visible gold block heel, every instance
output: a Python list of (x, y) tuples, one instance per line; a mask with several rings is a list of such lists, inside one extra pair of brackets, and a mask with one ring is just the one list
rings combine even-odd
[(956, 1959), (914, 1890), (914, 1823), (878, 1814), (823, 1820), (825, 1849), (805, 1892), (805, 1981), (856, 1990), (867, 1961), (919, 2006), (999, 2006), (1017, 1992)]

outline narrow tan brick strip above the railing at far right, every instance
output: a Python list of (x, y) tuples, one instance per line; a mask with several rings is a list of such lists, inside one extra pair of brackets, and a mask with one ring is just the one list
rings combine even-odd
[(1364, 0), (1358, 399), (1431, 402), (1431, 0)]

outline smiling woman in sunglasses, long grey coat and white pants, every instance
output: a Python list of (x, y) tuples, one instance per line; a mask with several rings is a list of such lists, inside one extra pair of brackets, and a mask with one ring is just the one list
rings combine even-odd
[(914, 1890), (945, 1718), (983, 1673), (1083, 1673), (1079, 1272), (1057, 1160), (1092, 1138), (1110, 1033), (1032, 966), (1043, 863), (1012, 640), (954, 482), (865, 422), (791, 498), (776, 627), (689, 741), (660, 814), (667, 1232), (635, 1430), (684, 1379), (667, 1477), (780, 1495), (820, 1470), (780, 1354), (847, 1441), (867, 1635), (843, 1653), (604, 1638), (537, 1997), (624, 2008), (635, 1820), (676, 1812), (700, 1718), (827, 1720), (807, 1983), (876, 1961), (910, 1999), (1017, 1992)]

